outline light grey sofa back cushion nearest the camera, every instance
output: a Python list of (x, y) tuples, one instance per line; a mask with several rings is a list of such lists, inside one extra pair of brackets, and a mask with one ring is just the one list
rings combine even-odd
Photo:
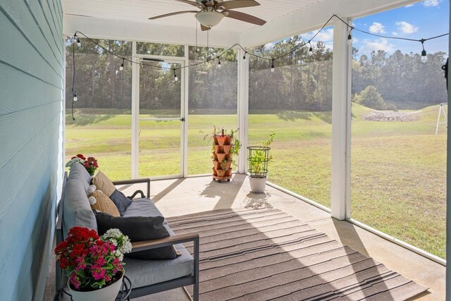
[(63, 205), (64, 238), (73, 226), (87, 227), (97, 231), (96, 217), (92, 212), (82, 182), (78, 178), (70, 178), (66, 182)]

